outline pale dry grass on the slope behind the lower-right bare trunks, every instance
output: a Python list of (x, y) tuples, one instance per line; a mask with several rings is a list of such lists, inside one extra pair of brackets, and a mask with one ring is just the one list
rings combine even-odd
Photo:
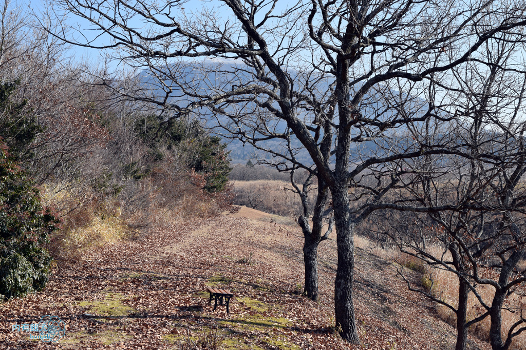
[[(453, 305), (458, 306), (458, 291), (459, 284), (457, 275), (453, 272), (449, 272), (442, 269), (431, 268), (420, 259), (411, 256), (410, 254), (400, 253), (395, 248), (382, 249), (380, 245), (365, 237), (355, 236), (355, 245), (359, 248), (368, 250), (373, 254), (376, 254), (383, 259), (399, 263), (401, 266), (407, 267), (411, 270), (419, 271), (422, 273), (422, 286), (424, 288), (431, 289), (431, 292), (438, 296), (441, 300)], [(440, 257), (444, 253), (443, 249), (434, 246), (430, 248), (430, 253), (435, 257)], [(447, 258), (447, 256), (445, 256)], [(521, 261), (520, 267), (526, 265), (526, 261)], [(481, 295), (484, 302), (491, 305), (491, 300), (494, 294), (494, 288), (489, 285), (478, 285), (477, 291)], [(522, 290), (522, 294), (526, 290)], [(511, 327), (511, 325), (520, 320), (520, 310), (526, 308), (526, 296), (519, 294), (512, 294), (507, 298), (505, 304), (508, 309), (513, 310), (502, 310), (502, 330), (503, 336), (505, 336)], [(483, 308), (478, 302), (476, 296), (470, 293), (468, 300), (468, 320), (472, 320), (475, 317), (482, 314)], [(449, 323), (452, 326), (456, 326), (457, 316), (446, 306), (437, 305), (438, 316)], [(486, 317), (483, 321), (471, 326), (470, 333), (477, 336), (479, 339), (489, 341), (489, 330), (490, 330), (490, 319)], [(521, 334), (514, 338), (513, 343), (510, 347), (512, 350), (526, 349), (526, 334)]]

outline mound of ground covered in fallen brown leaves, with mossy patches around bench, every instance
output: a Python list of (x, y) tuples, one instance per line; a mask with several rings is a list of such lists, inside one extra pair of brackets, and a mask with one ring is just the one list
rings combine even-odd
[[(222, 349), (454, 348), (454, 329), (437, 319), (433, 305), (409, 292), (389, 262), (361, 249), (355, 307), (363, 344), (342, 342), (331, 301), (336, 242), (320, 246), (321, 298), (308, 301), (299, 295), (300, 231), (287, 224), (244, 208), (59, 264), (43, 292), (0, 304), (0, 348), (178, 349), (205, 340)], [(234, 293), (229, 315), (208, 305), (210, 286)], [(66, 323), (58, 343), (12, 331), (42, 315)], [(469, 348), (490, 347), (472, 340)]]

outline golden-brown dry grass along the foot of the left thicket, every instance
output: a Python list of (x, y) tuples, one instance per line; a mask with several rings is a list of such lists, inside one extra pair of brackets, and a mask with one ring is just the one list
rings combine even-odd
[(103, 196), (67, 183), (46, 184), (41, 195), (44, 205), (55, 208), (62, 220), (47, 246), (57, 260), (83, 259), (94, 249), (143, 234), (149, 227), (216, 215), (225, 201), (225, 194), (205, 194), (189, 174), (173, 174), (163, 167), (118, 195)]

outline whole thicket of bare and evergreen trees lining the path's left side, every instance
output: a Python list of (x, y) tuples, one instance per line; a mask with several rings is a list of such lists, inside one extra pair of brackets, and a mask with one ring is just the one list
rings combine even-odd
[(0, 299), (90, 248), (229, 207), (219, 137), (117, 101), (24, 14), (0, 16)]

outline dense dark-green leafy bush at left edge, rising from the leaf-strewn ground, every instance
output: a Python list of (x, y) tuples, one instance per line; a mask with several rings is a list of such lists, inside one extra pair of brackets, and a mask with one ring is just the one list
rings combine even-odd
[(43, 245), (57, 224), (0, 140), (0, 299), (45, 287), (52, 259)]

